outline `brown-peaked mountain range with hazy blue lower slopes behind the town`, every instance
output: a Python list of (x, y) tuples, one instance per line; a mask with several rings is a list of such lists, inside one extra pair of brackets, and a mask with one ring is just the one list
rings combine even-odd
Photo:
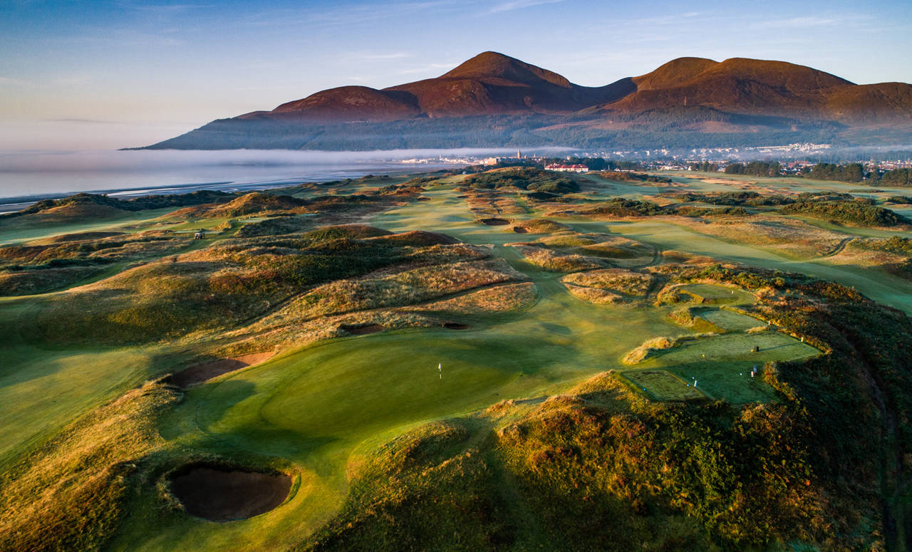
[(417, 147), (844, 145), (912, 138), (912, 85), (857, 85), (782, 61), (679, 57), (584, 87), (483, 52), (438, 78), (327, 89), (214, 120), (152, 149), (372, 150)]

